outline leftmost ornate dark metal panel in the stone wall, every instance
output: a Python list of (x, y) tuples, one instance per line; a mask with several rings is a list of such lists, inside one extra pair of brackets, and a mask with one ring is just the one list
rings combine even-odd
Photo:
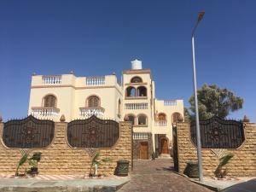
[(55, 123), (51, 120), (14, 119), (4, 123), (3, 143), (8, 148), (45, 148), (55, 134)]

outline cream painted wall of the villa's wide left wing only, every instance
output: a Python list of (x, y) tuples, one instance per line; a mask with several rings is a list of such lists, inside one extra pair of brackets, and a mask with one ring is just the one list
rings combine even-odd
[[(57, 83), (45, 83), (44, 77), (61, 77)], [(44, 96), (49, 94), (57, 98), (56, 108), (60, 109), (57, 115), (39, 115), (39, 118), (54, 119), (59, 121), (62, 114), (66, 121), (71, 119), (81, 119), (79, 108), (85, 107), (85, 100), (88, 96), (96, 95), (101, 99), (101, 107), (105, 109), (103, 118), (120, 120), (118, 116), (118, 100), (122, 102), (122, 88), (117, 82), (115, 75), (104, 76), (105, 83), (98, 85), (86, 84), (86, 78), (76, 78), (73, 74), (61, 76), (32, 76), (32, 88), (28, 113), (32, 113), (32, 108), (43, 107)]]

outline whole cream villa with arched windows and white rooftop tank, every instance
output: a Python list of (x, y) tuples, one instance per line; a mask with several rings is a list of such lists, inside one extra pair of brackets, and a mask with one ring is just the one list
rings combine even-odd
[[(166, 84), (167, 85), (167, 84)], [(170, 154), (172, 123), (183, 120), (183, 100), (158, 100), (150, 69), (142, 61), (131, 61), (123, 71), (122, 82), (116, 75), (76, 77), (33, 75), (28, 113), (40, 119), (66, 121), (98, 118), (133, 124), (133, 156), (149, 159), (155, 151)]]

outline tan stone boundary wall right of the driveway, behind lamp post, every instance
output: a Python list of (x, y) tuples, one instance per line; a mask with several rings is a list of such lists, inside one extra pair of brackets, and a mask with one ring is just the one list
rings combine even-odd
[[(256, 176), (256, 125), (244, 125), (245, 141), (236, 149), (202, 148), (202, 166), (204, 176), (214, 176), (219, 157), (234, 154), (226, 166), (228, 174), (236, 177)], [(183, 173), (188, 161), (197, 161), (195, 145), (190, 139), (190, 125), (177, 123), (178, 172)]]

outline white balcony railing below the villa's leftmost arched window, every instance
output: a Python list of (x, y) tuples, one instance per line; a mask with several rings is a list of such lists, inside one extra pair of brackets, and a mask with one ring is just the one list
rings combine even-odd
[(59, 108), (44, 108), (44, 107), (34, 107), (32, 108), (32, 115), (34, 117), (52, 117), (60, 113)]

